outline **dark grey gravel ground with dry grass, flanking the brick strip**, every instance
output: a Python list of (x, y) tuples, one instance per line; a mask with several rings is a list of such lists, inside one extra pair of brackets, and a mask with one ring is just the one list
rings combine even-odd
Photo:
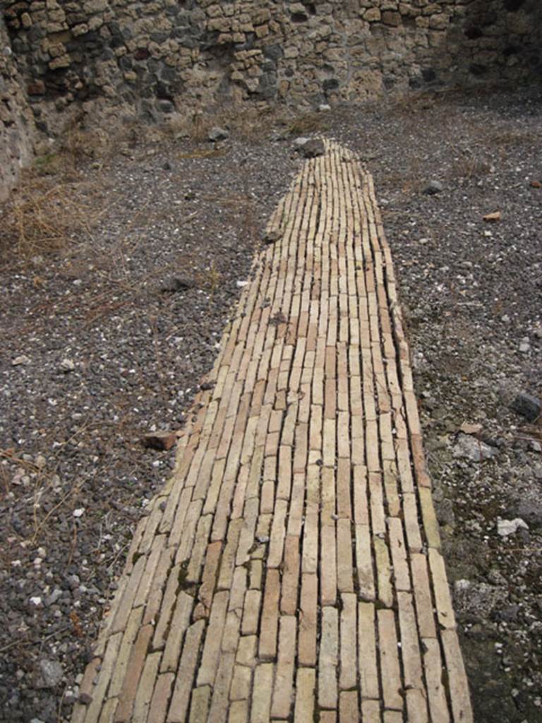
[[(442, 93), (321, 120), (377, 184), (477, 723), (542, 716), (542, 430), (510, 408), (542, 396), (541, 110), (532, 91)], [(90, 233), (0, 269), (1, 721), (68, 718), (173, 465), (142, 437), (181, 429), (299, 163), (271, 127), (119, 150), (85, 168)]]

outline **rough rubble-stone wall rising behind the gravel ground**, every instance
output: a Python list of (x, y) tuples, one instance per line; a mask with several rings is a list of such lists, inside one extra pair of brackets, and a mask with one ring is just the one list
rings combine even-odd
[(0, 186), (25, 161), (28, 107), (38, 129), (51, 133), (46, 111), (74, 103), (122, 104), (152, 120), (194, 103), (314, 106), (541, 76), (538, 0), (4, 0), (0, 7), (0, 158), (11, 154)]

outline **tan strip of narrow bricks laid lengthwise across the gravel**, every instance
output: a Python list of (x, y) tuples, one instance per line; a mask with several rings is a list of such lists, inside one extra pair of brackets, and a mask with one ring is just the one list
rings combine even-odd
[(469, 723), (371, 176), (327, 143), (269, 228), (73, 723)]

